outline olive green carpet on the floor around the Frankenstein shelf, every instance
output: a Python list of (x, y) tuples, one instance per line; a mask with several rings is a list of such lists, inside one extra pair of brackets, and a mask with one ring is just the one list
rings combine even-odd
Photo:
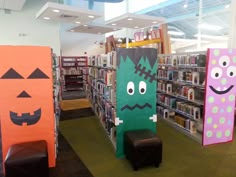
[(236, 143), (203, 147), (165, 122), (158, 122), (163, 141), (159, 168), (133, 171), (126, 159), (117, 159), (99, 120), (94, 117), (60, 123), (60, 130), (95, 177), (235, 177)]

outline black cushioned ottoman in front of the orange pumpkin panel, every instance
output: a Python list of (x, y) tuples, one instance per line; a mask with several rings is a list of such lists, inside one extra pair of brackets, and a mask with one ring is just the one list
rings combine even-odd
[(46, 141), (12, 145), (5, 159), (6, 177), (48, 177)]

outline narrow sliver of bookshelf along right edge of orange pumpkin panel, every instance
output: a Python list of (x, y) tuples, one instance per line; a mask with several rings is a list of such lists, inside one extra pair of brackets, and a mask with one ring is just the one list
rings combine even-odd
[(52, 71), (53, 71), (53, 100), (54, 100), (54, 118), (55, 118), (55, 152), (58, 153), (58, 134), (59, 134), (59, 119), (60, 119), (60, 101), (61, 101), (61, 86), (60, 86), (60, 67), (59, 58), (56, 54), (52, 54)]

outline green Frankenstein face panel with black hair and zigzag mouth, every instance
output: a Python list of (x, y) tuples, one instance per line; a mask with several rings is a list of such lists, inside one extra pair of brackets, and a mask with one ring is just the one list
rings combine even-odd
[(116, 156), (124, 157), (124, 132), (150, 129), (156, 132), (157, 50), (119, 49), (117, 52)]

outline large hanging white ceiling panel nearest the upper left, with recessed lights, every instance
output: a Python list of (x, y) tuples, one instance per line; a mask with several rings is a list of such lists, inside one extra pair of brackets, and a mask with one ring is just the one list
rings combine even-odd
[[(55, 10), (57, 12), (55, 12)], [(89, 9), (47, 2), (36, 14), (36, 18), (39, 19), (45, 19), (46, 17), (50, 18), (48, 20), (57, 21), (60, 23), (77, 22), (83, 25), (102, 17), (102, 14)]]

